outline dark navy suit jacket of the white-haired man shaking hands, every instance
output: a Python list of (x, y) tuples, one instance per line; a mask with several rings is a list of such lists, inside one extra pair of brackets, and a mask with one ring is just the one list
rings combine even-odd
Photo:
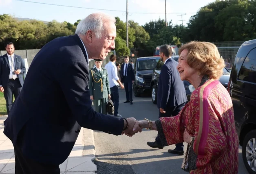
[(4, 134), (24, 156), (55, 165), (66, 160), (81, 126), (121, 135), (123, 119), (93, 110), (88, 80), (86, 51), (78, 35), (50, 41), (29, 67), (4, 121)]

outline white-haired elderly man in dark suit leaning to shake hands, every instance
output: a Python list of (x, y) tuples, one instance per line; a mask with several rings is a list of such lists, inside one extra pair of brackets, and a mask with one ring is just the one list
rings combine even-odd
[(70, 154), (81, 126), (135, 134), (135, 118), (97, 113), (88, 90), (88, 59), (106, 59), (115, 48), (115, 17), (90, 14), (75, 33), (50, 41), (36, 54), (4, 121), (4, 134), (14, 146), (16, 174), (60, 174), (59, 165)]

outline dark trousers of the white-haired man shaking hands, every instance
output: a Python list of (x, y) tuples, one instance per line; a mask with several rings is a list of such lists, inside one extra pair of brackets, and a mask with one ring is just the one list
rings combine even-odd
[(15, 174), (60, 174), (59, 165), (39, 163), (24, 157), (18, 144), (14, 145), (14, 154)]

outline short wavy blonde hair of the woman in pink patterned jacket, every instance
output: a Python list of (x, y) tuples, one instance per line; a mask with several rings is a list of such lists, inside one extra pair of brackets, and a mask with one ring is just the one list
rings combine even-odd
[(213, 43), (191, 41), (181, 46), (179, 55), (183, 50), (188, 50), (188, 65), (198, 70), (201, 75), (207, 75), (213, 79), (219, 79), (222, 76), (225, 62)]

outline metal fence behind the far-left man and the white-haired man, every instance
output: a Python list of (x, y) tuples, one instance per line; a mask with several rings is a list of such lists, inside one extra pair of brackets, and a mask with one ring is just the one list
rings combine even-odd
[[(38, 54), (38, 52), (40, 51), (40, 49), (35, 49), (35, 50), (15, 50), (15, 54), (21, 56), (23, 59), (27, 59), (28, 62), (28, 67), (30, 66), (31, 62), (33, 61), (34, 57), (36, 54)], [(0, 51), (0, 56), (6, 54), (6, 50), (4, 51)], [(106, 59), (103, 61), (102, 63), (102, 67), (104, 67), (108, 62), (109, 62), (109, 58), (111, 54), (115, 54), (115, 51), (111, 51), (110, 54), (108, 54), (108, 56), (106, 57)], [(95, 65), (94, 60), (89, 62), (89, 67), (92, 68)]]

